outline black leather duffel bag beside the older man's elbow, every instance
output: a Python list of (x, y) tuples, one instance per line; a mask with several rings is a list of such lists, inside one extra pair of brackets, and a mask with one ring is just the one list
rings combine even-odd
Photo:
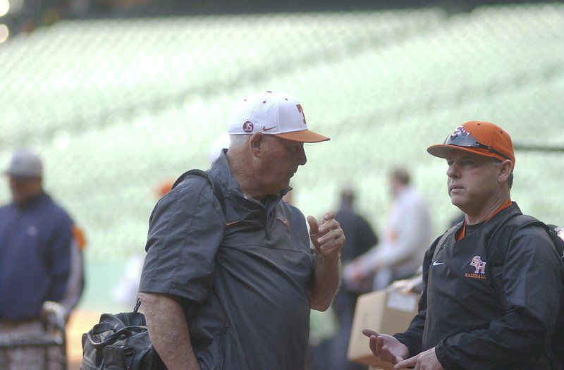
[(80, 370), (165, 370), (149, 340), (145, 315), (137, 312), (102, 314), (100, 322), (82, 334)]

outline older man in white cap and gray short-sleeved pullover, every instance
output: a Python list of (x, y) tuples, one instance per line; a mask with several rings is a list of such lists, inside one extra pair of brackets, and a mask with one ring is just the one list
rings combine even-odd
[(169, 370), (304, 369), (309, 309), (331, 304), (345, 237), (332, 212), (308, 216), (308, 235), (281, 199), (304, 142), (329, 138), (275, 92), (241, 101), (228, 132), (210, 181), (188, 176), (154, 208), (140, 284), (149, 333)]

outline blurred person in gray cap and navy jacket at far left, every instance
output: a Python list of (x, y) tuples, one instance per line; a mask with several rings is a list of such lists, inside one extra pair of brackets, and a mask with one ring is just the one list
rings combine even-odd
[[(73, 221), (44, 192), (39, 156), (13, 153), (5, 173), (12, 202), (0, 208), (0, 332), (40, 332), (44, 302), (61, 302), (67, 309), (78, 302), (69, 294), (82, 292), (82, 259), (71, 266), (78, 252)], [(72, 288), (79, 290), (71, 293)], [(2, 352), (0, 368), (37, 369), (42, 353)]]

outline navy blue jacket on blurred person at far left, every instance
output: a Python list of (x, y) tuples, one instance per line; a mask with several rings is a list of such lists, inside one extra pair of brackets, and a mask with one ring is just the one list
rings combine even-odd
[(0, 319), (37, 319), (43, 302), (64, 295), (73, 221), (46, 194), (20, 209), (0, 208)]

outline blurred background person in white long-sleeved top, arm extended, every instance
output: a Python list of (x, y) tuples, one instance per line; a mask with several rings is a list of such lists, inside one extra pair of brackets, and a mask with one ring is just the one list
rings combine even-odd
[(410, 174), (398, 167), (389, 176), (393, 204), (388, 214), (384, 239), (369, 252), (345, 266), (343, 278), (358, 283), (374, 273), (374, 290), (393, 280), (414, 275), (432, 237), (429, 205), (410, 186)]

